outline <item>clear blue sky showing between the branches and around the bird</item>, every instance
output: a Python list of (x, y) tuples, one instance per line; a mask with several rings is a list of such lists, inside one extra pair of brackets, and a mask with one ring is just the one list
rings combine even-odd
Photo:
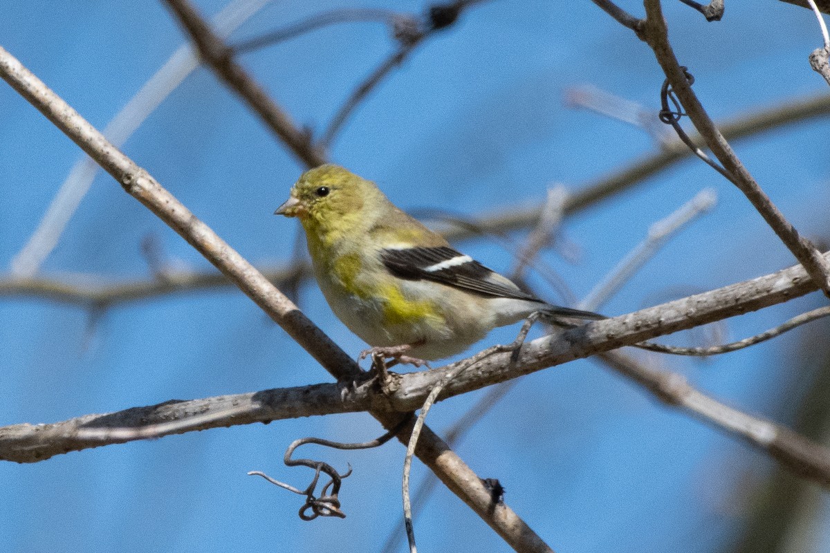
[[(630, 2), (632, 12), (641, 10)], [(256, 36), (330, 7), (272, 2), (234, 33)], [(338, 6), (388, 7), (382, 2)], [(222, 2), (198, 2), (213, 15)], [(417, 2), (395, 9), (422, 12)], [(731, 2), (706, 23), (666, 2), (671, 39), (715, 119), (827, 93), (807, 56), (820, 46), (807, 10), (784, 2)], [(91, 123), (103, 128), (185, 41), (159, 2), (9, 2), (0, 45)], [(378, 23), (326, 27), (245, 56), (242, 62), (297, 124), (320, 131), (340, 103), (393, 49)], [(330, 156), (407, 210), (466, 216), (540, 202), (553, 183), (579, 189), (652, 153), (639, 129), (585, 110), (564, 95), (595, 85), (655, 111), (662, 74), (652, 52), (590, 2), (483, 2), (430, 38), (359, 106)], [(799, 230), (827, 235), (827, 119), (735, 143), (764, 189)], [(196, 70), (129, 138), (125, 153), (223, 239), (261, 266), (291, 259), (294, 221), (272, 216), (303, 167), (212, 73)], [(26, 244), (72, 165), (75, 144), (6, 85), (0, 86), (0, 273)], [(592, 289), (657, 219), (704, 187), (715, 210), (666, 245), (604, 308), (627, 313), (688, 293), (766, 274), (794, 261), (749, 202), (696, 160), (569, 217), (578, 252), (544, 252), (577, 297)], [(521, 234), (515, 238), (520, 239)], [(162, 260), (207, 261), (109, 176), (95, 178), (41, 274), (149, 279), (140, 243)], [(459, 248), (494, 269), (510, 252), (494, 240)], [(560, 301), (541, 279), (545, 298)], [(315, 284), (300, 307), (355, 356), (364, 344), (330, 313)], [(726, 323), (749, 336), (820, 304), (816, 294)], [(508, 342), (515, 328), (486, 343)], [(673, 337), (674, 341), (693, 336)], [(705, 363), (645, 357), (757, 415), (786, 422), (798, 398), (792, 349), (800, 332)], [(235, 289), (113, 306), (104, 313), (42, 299), (0, 298), (0, 424), (330, 381), (310, 356)], [(441, 431), (481, 397), (437, 405)], [(793, 399), (793, 397), (795, 399)], [(0, 465), (3, 551), (378, 551), (401, 517), (403, 448), (317, 449), (354, 466), (344, 520), (303, 522), (297, 497), (246, 476), (261, 469), (304, 486), (281, 465), (305, 435), (363, 441), (381, 433), (368, 415), (338, 415), (213, 429)], [(310, 448), (310, 449), (313, 449)], [(555, 551), (715, 551), (748, 517), (773, 467), (763, 454), (667, 410), (594, 361), (527, 376), (457, 446)], [(424, 475), (415, 468), (415, 481)], [(818, 520), (828, 526), (823, 502)], [(823, 517), (823, 518), (822, 518)], [(816, 527), (822, 527), (818, 523)], [(439, 488), (416, 522), (422, 551), (508, 551), (486, 525)], [(814, 538), (827, 544), (826, 530)], [(404, 550), (404, 538), (398, 551)], [(817, 551), (820, 551), (819, 548)]]

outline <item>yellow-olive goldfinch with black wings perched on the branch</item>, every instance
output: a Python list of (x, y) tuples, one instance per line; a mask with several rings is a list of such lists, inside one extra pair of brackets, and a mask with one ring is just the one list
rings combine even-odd
[(332, 311), (372, 346), (361, 357), (371, 352), (415, 364), (449, 357), (535, 312), (603, 318), (519, 289), (453, 250), (374, 182), (337, 165), (303, 173), (275, 215), (300, 220)]

